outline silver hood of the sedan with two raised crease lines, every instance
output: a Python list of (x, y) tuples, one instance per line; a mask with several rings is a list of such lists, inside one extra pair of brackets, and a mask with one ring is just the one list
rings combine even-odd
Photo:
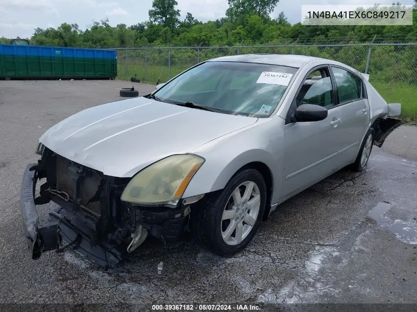
[(130, 177), (256, 121), (141, 97), (80, 111), (47, 130), (39, 142), (78, 164)]

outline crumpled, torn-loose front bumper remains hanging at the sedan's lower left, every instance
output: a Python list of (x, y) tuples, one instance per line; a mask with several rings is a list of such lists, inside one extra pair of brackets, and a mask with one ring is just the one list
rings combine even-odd
[(23, 231), (32, 259), (38, 259), (45, 251), (63, 250), (71, 244), (73, 249), (87, 259), (107, 268), (117, 267), (122, 260), (121, 252), (104, 244), (91, 244), (91, 233), (80, 220), (63, 208), (49, 213), (49, 223), (39, 225), (35, 205), (37, 164), (26, 167), (20, 189), (20, 204), (23, 218)]

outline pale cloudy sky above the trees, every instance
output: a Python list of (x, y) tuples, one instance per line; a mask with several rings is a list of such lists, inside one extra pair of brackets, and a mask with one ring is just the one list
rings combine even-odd
[[(191, 12), (200, 21), (225, 16), (227, 0), (177, 0), (181, 19)], [(395, 0), (397, 1), (397, 0)], [(392, 0), (315, 0), (314, 4), (390, 4)], [(197, 4), (198, 3), (198, 4)], [(412, 4), (413, 0), (402, 0)], [(280, 0), (273, 18), (284, 11), (290, 23), (301, 20), (301, 4), (306, 0)], [(76, 23), (80, 29), (92, 21), (109, 18), (110, 24), (137, 24), (148, 20), (152, 0), (0, 0), (0, 37), (31, 37), (35, 28), (58, 27), (62, 23)]]

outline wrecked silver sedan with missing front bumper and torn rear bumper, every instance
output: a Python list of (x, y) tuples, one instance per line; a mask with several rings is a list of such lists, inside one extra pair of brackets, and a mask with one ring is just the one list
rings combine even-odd
[[(307, 56), (222, 57), (63, 120), (22, 181), (30, 254), (72, 246), (113, 267), (148, 235), (189, 229), (218, 255), (238, 252), (283, 201), (345, 166), (364, 170), (402, 123), (368, 77)], [(41, 226), (36, 205), (49, 201)]]

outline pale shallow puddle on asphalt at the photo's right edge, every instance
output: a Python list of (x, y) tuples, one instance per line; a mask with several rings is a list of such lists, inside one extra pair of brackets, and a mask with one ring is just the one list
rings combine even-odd
[(393, 205), (388, 202), (378, 203), (372, 208), (365, 221), (372, 224), (378, 224), (390, 232), (394, 233), (398, 240), (404, 243), (417, 244), (417, 222), (416, 218), (410, 221), (395, 220), (392, 221), (386, 212), (391, 209)]

